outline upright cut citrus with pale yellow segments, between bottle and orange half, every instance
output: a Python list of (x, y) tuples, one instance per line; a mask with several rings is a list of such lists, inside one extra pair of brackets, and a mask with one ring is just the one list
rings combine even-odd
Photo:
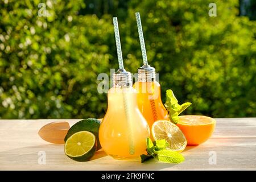
[(179, 127), (167, 120), (154, 122), (152, 135), (155, 140), (166, 139), (172, 151), (182, 152), (187, 146), (187, 140)]

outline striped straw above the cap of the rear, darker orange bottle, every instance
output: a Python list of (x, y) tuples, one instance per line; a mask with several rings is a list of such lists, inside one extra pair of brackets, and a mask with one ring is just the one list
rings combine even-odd
[(136, 16), (137, 27), (138, 27), (138, 32), (139, 32), (139, 42), (141, 43), (143, 64), (148, 65), (147, 64), (147, 52), (146, 52), (143, 31), (142, 31), (142, 25), (141, 25), (141, 16), (139, 16), (139, 12), (135, 13), (135, 16)]

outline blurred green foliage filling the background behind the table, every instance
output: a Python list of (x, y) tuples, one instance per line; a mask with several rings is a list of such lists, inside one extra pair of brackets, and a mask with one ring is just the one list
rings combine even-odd
[[(41, 2), (48, 17), (38, 16)], [(97, 92), (97, 76), (118, 68), (112, 16), (125, 67), (136, 73), (137, 11), (163, 101), (172, 89), (193, 103), (184, 114), (255, 117), (256, 22), (238, 16), (234, 0), (214, 1), (210, 17), (210, 2), (0, 1), (0, 118), (103, 117), (107, 96)]]

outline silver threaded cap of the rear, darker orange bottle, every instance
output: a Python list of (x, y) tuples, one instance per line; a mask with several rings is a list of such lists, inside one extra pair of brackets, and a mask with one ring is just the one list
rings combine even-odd
[(138, 81), (150, 82), (155, 81), (155, 68), (150, 65), (143, 65), (138, 69)]

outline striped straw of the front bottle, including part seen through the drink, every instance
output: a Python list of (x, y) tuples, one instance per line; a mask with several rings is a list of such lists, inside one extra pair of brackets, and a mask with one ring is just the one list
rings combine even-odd
[[(117, 57), (118, 57), (118, 64), (119, 69), (123, 70), (123, 57), (122, 57), (122, 49), (121, 49), (121, 42), (119, 37), (119, 29), (118, 29), (118, 22), (117, 17), (113, 18), (113, 24), (114, 24), (114, 32), (115, 32), (115, 44), (117, 45)], [(131, 121), (131, 113), (130, 113), (130, 107), (129, 107), (129, 98), (127, 98), (127, 94), (123, 93), (123, 105), (125, 108), (125, 117), (128, 124), (128, 133), (129, 133), (129, 154), (133, 155), (135, 153), (134, 149), (134, 141), (133, 141), (133, 121)]]

